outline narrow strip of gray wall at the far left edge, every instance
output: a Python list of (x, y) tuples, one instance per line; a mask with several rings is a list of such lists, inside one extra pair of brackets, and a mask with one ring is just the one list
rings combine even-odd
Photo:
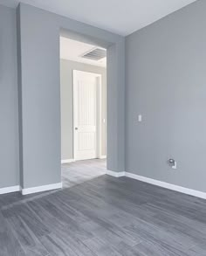
[(0, 188), (19, 184), (16, 11), (0, 5)]

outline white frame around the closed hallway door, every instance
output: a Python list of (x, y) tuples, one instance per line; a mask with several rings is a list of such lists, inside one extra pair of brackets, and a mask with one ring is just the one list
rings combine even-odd
[(77, 70), (73, 69), (72, 70), (72, 90), (73, 90), (73, 160), (76, 161), (76, 152), (77, 152), (77, 139), (76, 139), (76, 133), (75, 133), (75, 127), (77, 127), (77, 113), (76, 113), (76, 104), (77, 102), (75, 101), (75, 86), (77, 85), (77, 77), (79, 73), (89, 73), (93, 74), (96, 79), (97, 79), (97, 90), (96, 90), (96, 156), (97, 158), (101, 158), (101, 145), (102, 145), (102, 136), (101, 136), (101, 126), (102, 126), (102, 109), (101, 109), (101, 104), (102, 104), (102, 75), (100, 73), (91, 73), (91, 72), (86, 72), (82, 70)]

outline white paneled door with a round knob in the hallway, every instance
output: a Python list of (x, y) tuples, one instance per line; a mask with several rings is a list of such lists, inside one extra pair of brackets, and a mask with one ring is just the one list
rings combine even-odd
[(73, 71), (74, 159), (97, 158), (100, 75)]

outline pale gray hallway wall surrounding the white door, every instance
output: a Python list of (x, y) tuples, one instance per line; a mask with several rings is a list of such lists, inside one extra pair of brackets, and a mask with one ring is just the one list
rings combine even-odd
[[(102, 119), (106, 118), (106, 68), (79, 63), (67, 59), (60, 60), (61, 84), (61, 159), (73, 158), (73, 82), (72, 71), (80, 70), (102, 75)], [(106, 155), (106, 124), (101, 127), (102, 156)]]

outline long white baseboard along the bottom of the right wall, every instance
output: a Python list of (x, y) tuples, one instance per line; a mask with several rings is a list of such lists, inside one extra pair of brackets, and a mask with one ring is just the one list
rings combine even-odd
[(198, 190), (191, 190), (191, 189), (184, 188), (184, 187), (181, 187), (181, 186), (178, 186), (175, 184), (161, 182), (159, 180), (154, 180), (154, 179), (148, 178), (146, 176), (139, 176), (139, 175), (129, 173), (129, 172), (126, 172), (125, 176), (139, 180), (144, 183), (150, 183), (150, 184), (153, 184), (153, 185), (156, 185), (156, 186), (168, 189), (168, 190), (175, 190), (175, 191), (181, 192), (183, 194), (187, 194), (189, 196), (200, 197), (200, 198), (206, 199), (206, 193), (198, 191)]

